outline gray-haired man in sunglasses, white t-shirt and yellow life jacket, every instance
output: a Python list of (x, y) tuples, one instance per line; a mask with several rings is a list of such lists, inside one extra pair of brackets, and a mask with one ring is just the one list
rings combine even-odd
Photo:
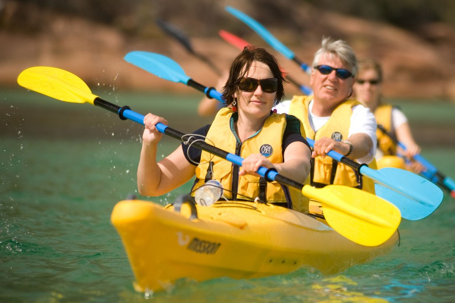
[(312, 96), (294, 96), (277, 106), (279, 113), (298, 117), (306, 135), (314, 139), (311, 185), (342, 184), (374, 192), (374, 183), (352, 168), (326, 157), (330, 150), (371, 163), (376, 151), (376, 121), (368, 108), (354, 99), (357, 59), (343, 40), (323, 38), (315, 53), (310, 86)]

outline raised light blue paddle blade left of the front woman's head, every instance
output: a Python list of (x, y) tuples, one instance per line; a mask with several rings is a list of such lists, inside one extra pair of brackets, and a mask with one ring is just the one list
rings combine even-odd
[(190, 77), (185, 74), (185, 71), (178, 63), (160, 54), (133, 51), (126, 54), (123, 59), (165, 80), (184, 84), (187, 84), (188, 80), (190, 80)]

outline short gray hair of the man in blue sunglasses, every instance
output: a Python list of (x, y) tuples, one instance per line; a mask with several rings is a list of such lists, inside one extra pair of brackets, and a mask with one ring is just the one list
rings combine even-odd
[(321, 48), (314, 54), (313, 68), (319, 65), (319, 61), (323, 55), (328, 55), (329, 58), (338, 57), (341, 62), (350, 67), (351, 73), (354, 76), (357, 74), (357, 57), (352, 47), (346, 41), (323, 37)]

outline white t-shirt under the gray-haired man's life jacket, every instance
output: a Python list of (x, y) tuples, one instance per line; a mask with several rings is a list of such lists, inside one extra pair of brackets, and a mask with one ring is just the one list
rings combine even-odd
[[(275, 109), (277, 110), (278, 114), (289, 114), (289, 107), (291, 106), (291, 100), (285, 100), (282, 103), (278, 104)], [(310, 123), (311, 128), (314, 131), (319, 130), (324, 124), (329, 121), (330, 116), (328, 117), (318, 117), (313, 115), (313, 100), (308, 105), (308, 120)], [(358, 163), (366, 163), (369, 164), (373, 161), (373, 158), (376, 154), (376, 144), (377, 144), (377, 137), (376, 137), (376, 119), (373, 113), (370, 111), (369, 108), (356, 105), (352, 107), (352, 116), (351, 116), (351, 125), (349, 127), (349, 134), (348, 137), (355, 133), (365, 133), (367, 134), (371, 140), (373, 141), (373, 147), (370, 149), (370, 153), (360, 159), (357, 159)]]

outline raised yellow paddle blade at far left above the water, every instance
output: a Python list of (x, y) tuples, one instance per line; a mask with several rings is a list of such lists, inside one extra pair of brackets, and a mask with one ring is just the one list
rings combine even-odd
[(78, 76), (56, 67), (30, 67), (19, 74), (17, 83), (64, 102), (93, 104), (98, 97)]

